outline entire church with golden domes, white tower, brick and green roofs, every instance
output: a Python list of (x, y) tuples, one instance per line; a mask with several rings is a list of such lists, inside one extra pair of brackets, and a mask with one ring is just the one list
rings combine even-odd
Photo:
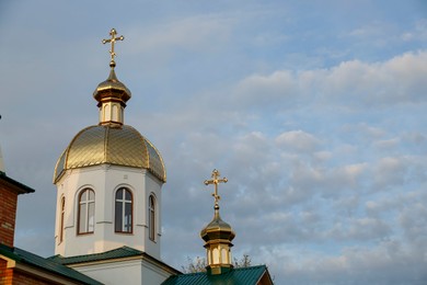
[(0, 169), (0, 284), (273, 284), (265, 265), (232, 265), (235, 233), (220, 217), (218, 194), (228, 180), (218, 170), (205, 181), (215, 200), (214, 218), (199, 233), (206, 272), (184, 274), (161, 260), (165, 163), (148, 138), (125, 124), (131, 92), (115, 72), (115, 44), (124, 37), (114, 29), (109, 35), (103, 39), (111, 45), (109, 75), (93, 92), (99, 122), (80, 130), (55, 166), (54, 256), (14, 247), (18, 196), (34, 190)]

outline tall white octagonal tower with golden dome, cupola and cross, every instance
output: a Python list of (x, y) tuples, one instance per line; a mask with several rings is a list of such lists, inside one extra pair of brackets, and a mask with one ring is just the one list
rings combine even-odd
[(130, 91), (115, 75), (114, 44), (108, 78), (93, 93), (97, 125), (79, 132), (59, 157), (55, 253), (74, 256), (124, 246), (160, 259), (161, 189), (166, 181), (160, 152), (124, 124)]

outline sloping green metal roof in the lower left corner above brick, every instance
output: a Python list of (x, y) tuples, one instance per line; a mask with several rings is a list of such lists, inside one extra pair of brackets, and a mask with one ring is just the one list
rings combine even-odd
[(59, 264), (51, 259), (45, 259), (19, 248), (10, 248), (8, 246), (0, 244), (0, 254), (14, 260), (16, 263), (23, 263), (33, 267), (38, 267), (43, 271), (48, 271), (62, 277), (73, 280), (80, 284), (103, 284), (73, 269)]

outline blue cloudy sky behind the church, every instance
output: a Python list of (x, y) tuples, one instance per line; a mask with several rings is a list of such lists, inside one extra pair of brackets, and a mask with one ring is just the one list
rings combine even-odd
[(125, 123), (159, 149), (162, 260), (205, 256), (221, 217), (233, 255), (276, 284), (427, 283), (427, 2), (1, 1), (0, 145), (15, 246), (54, 254), (56, 160), (99, 123), (109, 72)]

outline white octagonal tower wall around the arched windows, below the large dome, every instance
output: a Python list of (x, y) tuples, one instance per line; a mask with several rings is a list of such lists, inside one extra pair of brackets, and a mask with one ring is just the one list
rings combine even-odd
[[(114, 231), (114, 194), (120, 186), (128, 187), (134, 195), (132, 233)], [(162, 183), (146, 169), (102, 164), (67, 170), (57, 182), (55, 253), (72, 256), (128, 246), (160, 259), (161, 186)], [(95, 229), (94, 233), (77, 235), (78, 196), (85, 187), (95, 192)], [(148, 235), (148, 197), (151, 193), (154, 194), (158, 206), (155, 242)], [(62, 195), (66, 197), (65, 238), (59, 242)]]

